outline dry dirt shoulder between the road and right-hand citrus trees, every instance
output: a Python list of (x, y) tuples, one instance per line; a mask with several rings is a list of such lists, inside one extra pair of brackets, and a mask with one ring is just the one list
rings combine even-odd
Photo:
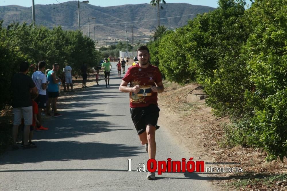
[(223, 190), (287, 190), (287, 162), (265, 162), (266, 153), (260, 149), (240, 145), (226, 148), (228, 118), (216, 118), (205, 100), (187, 102), (189, 94), (204, 94), (199, 84), (180, 86), (164, 81), (165, 91), (159, 94), (161, 116), (172, 125), (170, 128), (193, 153), (195, 159), (205, 162), (241, 163), (237, 165), (206, 165), (206, 167), (241, 167), (243, 172), (210, 173), (213, 184)]

